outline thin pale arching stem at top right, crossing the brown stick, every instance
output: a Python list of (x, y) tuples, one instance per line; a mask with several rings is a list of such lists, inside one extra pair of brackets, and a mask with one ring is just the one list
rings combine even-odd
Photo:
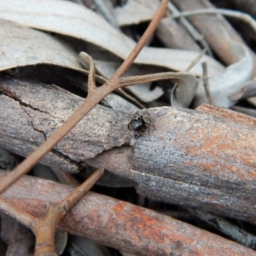
[(180, 12), (177, 14), (173, 14), (173, 18), (180, 18), (180, 17), (186, 17), (186, 16), (192, 16), (192, 15), (200, 15), (200, 14), (222, 14), (227, 17), (232, 17), (236, 19), (243, 20), (246, 22), (250, 27), (255, 31), (256, 33), (256, 22), (255, 20), (248, 14), (238, 11), (231, 11), (231, 10), (225, 10), (225, 9), (204, 9), (204, 10), (195, 10), (190, 12)]

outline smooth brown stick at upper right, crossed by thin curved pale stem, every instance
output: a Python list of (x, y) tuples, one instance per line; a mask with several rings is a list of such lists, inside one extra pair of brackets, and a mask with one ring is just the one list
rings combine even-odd
[[(204, 8), (214, 8), (214, 6), (208, 0), (173, 0), (172, 1), (176, 6), (179, 7), (182, 11), (189, 10), (198, 10)], [(225, 31), (228, 33), (230, 38), (236, 42), (241, 42), (246, 45), (239, 36), (239, 34), (230, 26), (227, 20), (221, 15), (193, 15), (188, 17), (191, 20), (193, 26), (195, 26), (198, 31), (204, 35), (207, 43), (212, 47), (213, 51), (220, 56), (221, 60), (223, 60), (227, 65), (235, 63), (237, 61), (236, 54), (232, 50), (232, 47), (228, 44), (228, 42), (223, 39), (225, 38)], [(214, 26), (213, 26), (214, 24)], [(209, 29), (211, 28), (211, 29)], [(223, 29), (224, 28), (224, 29)], [(247, 46), (248, 47), (248, 46)], [(256, 74), (256, 56), (253, 51), (250, 51), (253, 56), (254, 61), (254, 76)]]

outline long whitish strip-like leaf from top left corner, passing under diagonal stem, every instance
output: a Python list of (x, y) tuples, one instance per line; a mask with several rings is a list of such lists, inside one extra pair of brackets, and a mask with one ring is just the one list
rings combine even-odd
[[(79, 4), (59, 0), (1, 0), (0, 18), (13, 20), (31, 28), (52, 31), (80, 38), (113, 52), (125, 59), (136, 44), (131, 38), (117, 31), (97, 13)], [(39, 18), (40, 17), (40, 18)], [(198, 52), (144, 47), (135, 63), (156, 65), (173, 70), (185, 70), (195, 60)], [(225, 68), (218, 61), (204, 56), (209, 74), (223, 74)], [(202, 75), (200, 63), (191, 69), (192, 74)]]

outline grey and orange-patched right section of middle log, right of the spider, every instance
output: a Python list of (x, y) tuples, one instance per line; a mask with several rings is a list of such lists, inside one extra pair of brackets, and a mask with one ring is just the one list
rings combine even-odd
[(131, 140), (138, 193), (255, 223), (256, 129), (191, 109), (152, 108)]

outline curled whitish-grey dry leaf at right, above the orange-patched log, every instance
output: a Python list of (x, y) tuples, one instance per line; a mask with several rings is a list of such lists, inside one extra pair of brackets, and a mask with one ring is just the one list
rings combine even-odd
[[(250, 80), (253, 72), (252, 55), (243, 44), (228, 40), (233, 52), (236, 53), (236, 63), (227, 67), (226, 72), (221, 76), (209, 76), (209, 89), (216, 106), (229, 108), (236, 104), (237, 100), (232, 100), (230, 95), (239, 93), (243, 89), (244, 83)], [(202, 103), (208, 103), (205, 94), (204, 84), (200, 80), (194, 106), (200, 106)]]

